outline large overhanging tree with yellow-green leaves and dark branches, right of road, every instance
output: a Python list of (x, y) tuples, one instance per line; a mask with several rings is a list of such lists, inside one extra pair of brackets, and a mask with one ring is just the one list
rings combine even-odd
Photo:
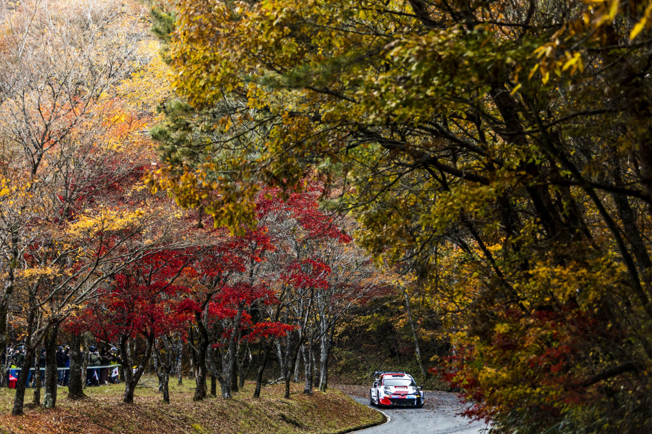
[(160, 182), (230, 223), (321, 169), (366, 248), (455, 313), (450, 375), (496, 431), (649, 431), (650, 10), (180, 1), (194, 114)]

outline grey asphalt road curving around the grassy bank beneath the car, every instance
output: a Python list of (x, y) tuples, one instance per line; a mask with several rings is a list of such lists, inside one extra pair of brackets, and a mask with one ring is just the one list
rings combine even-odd
[[(369, 397), (352, 395), (361, 404), (369, 405)], [(375, 408), (375, 407), (374, 407)], [(426, 391), (426, 405), (421, 409), (382, 409), (391, 418), (389, 423), (356, 431), (356, 434), (479, 434), (489, 428), (484, 422), (471, 421), (456, 415), (463, 411), (456, 394)]]

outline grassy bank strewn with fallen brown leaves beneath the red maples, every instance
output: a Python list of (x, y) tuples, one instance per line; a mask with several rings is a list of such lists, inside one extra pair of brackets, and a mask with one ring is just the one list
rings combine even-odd
[[(78, 401), (68, 400), (67, 387), (60, 387), (58, 408), (30, 409), (26, 405), (25, 415), (19, 417), (10, 415), (13, 390), (2, 388), (0, 433), (326, 434), (384, 421), (382, 414), (335, 389), (304, 395), (301, 385), (292, 385), (290, 399), (284, 399), (283, 385), (272, 385), (264, 387), (261, 398), (254, 400), (250, 383), (231, 400), (210, 397), (193, 402), (194, 381), (185, 381), (183, 386), (171, 387), (172, 402), (164, 404), (161, 394), (151, 387), (156, 385), (155, 378), (145, 379), (143, 385), (137, 388), (131, 405), (121, 402), (122, 384), (89, 387), (88, 398)], [(27, 389), (25, 402), (31, 401), (32, 389)]]

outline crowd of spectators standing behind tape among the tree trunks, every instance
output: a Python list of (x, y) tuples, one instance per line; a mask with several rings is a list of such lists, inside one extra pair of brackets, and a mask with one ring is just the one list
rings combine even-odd
[[(7, 359), (9, 357), (9, 359)], [(119, 383), (119, 370), (120, 357), (115, 347), (108, 348), (102, 346), (98, 349), (95, 346), (89, 347), (87, 352), (82, 352), (82, 357), (86, 358), (87, 386), (100, 386), (109, 383)], [(1, 363), (5, 367), (7, 378), (9, 378), (8, 385), (12, 387), (12, 381), (15, 384), (18, 376), (21, 373), (21, 367), (25, 361), (25, 347), (23, 345), (16, 346), (9, 345), (2, 356)], [(45, 381), (45, 348), (41, 348), (38, 352), (38, 357), (34, 357), (34, 366), (38, 366), (40, 372), (40, 381), (43, 384)], [(70, 348), (67, 345), (59, 346), (56, 352), (56, 366), (57, 366), (57, 384), (60, 386), (67, 386), (70, 378)], [(36, 387), (36, 372), (32, 368), (27, 373), (25, 384), (27, 387)]]

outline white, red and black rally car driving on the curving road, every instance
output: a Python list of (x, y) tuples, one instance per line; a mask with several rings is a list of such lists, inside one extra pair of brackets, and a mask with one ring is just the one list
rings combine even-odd
[(376, 371), (369, 404), (378, 407), (423, 407), (426, 397), (415, 379), (405, 372)]

